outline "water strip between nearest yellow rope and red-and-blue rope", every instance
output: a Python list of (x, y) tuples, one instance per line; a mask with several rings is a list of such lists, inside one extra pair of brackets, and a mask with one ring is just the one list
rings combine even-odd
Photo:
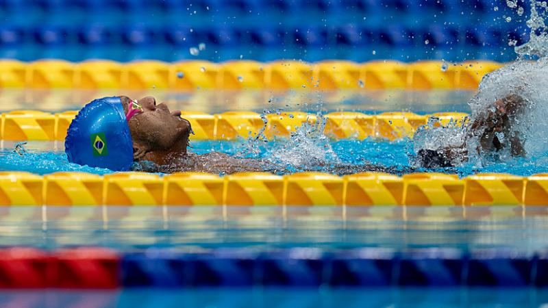
[(1, 246), (43, 249), (104, 246), (116, 251), (174, 248), (382, 247), (507, 248), (531, 254), (548, 246), (548, 208), (535, 207), (4, 207)]

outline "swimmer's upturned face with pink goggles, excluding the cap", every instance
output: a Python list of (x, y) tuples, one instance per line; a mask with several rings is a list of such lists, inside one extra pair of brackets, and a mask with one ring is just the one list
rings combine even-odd
[[(132, 100), (121, 97), (127, 114)], [(142, 112), (133, 116), (128, 124), (134, 142), (134, 158), (140, 159), (147, 153), (178, 151), (186, 153), (190, 123), (181, 118), (181, 112), (171, 112), (165, 103), (157, 104), (153, 97), (138, 100)]]

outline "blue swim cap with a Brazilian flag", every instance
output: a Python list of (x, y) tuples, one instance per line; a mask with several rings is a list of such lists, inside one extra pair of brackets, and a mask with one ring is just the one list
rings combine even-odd
[(133, 142), (120, 97), (104, 97), (84, 106), (66, 131), (64, 151), (69, 162), (129, 170)]

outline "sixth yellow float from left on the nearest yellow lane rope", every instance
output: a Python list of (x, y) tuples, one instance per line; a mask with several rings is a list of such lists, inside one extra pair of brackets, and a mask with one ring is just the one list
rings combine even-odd
[(321, 172), (285, 175), (286, 205), (343, 205), (343, 179)]

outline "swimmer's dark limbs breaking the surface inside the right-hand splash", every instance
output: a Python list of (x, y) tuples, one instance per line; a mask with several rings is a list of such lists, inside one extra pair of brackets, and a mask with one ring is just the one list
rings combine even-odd
[[(477, 155), (490, 155), (504, 149), (512, 156), (525, 156), (523, 138), (516, 125), (523, 116), (527, 101), (517, 94), (508, 94), (493, 102), (486, 110), (464, 123), (462, 144), (442, 149), (420, 149), (419, 165), (424, 168), (452, 167), (469, 159), (469, 149)], [(502, 142), (499, 136), (504, 137)]]

